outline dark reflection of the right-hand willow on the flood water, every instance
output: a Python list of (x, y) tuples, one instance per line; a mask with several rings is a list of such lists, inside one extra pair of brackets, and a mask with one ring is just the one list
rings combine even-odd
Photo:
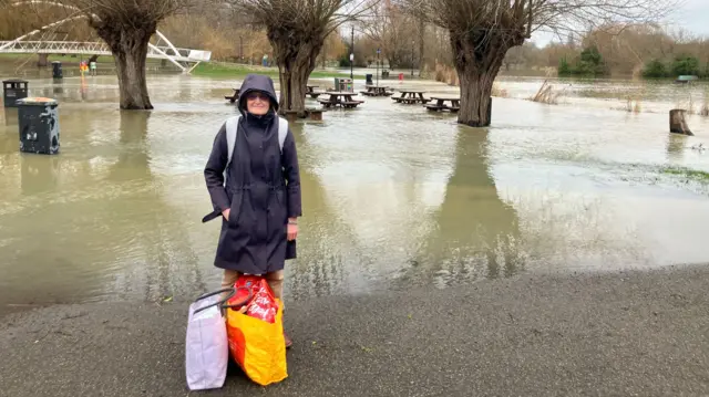
[(511, 276), (524, 265), (515, 210), (503, 202), (491, 175), (486, 128), (458, 127), (455, 163), (436, 226), (401, 276), (438, 285), (481, 276)]

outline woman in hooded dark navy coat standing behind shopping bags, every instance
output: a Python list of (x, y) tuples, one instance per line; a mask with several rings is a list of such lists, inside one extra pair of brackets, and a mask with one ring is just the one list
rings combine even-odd
[[(282, 126), (279, 137), (284, 121), (276, 114), (270, 77), (246, 76), (238, 109), (238, 124), (233, 119), (222, 126), (204, 170), (214, 212), (203, 221), (223, 218), (214, 262), (224, 269), (222, 285), (234, 285), (240, 273), (263, 274), (282, 302), (284, 265), (286, 259), (296, 258), (301, 216), (296, 142), (290, 128)], [(229, 123), (237, 126), (230, 163)], [(292, 342), (284, 336), (290, 347)]]

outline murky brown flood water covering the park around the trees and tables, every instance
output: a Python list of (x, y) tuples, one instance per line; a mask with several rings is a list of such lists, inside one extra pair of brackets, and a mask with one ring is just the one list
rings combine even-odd
[[(0, 312), (216, 289), (203, 169), (238, 84), (154, 75), (155, 109), (120, 112), (113, 77), (30, 80), (31, 95), (61, 103), (61, 154), (20, 154), (17, 111), (0, 113)], [(709, 189), (662, 171), (709, 171), (709, 152), (691, 149), (709, 146), (703, 118), (689, 118), (696, 137), (670, 136), (671, 96), (630, 114), (607, 97), (525, 101), (538, 79), (502, 84), (511, 98), (494, 100), (490, 128), (369, 97), (292, 125), (304, 218), (286, 294), (709, 262)]]

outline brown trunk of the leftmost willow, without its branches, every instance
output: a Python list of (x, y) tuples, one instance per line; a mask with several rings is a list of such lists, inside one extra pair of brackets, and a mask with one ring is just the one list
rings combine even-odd
[(144, 21), (144, 25), (124, 25), (120, 21), (101, 21), (94, 25), (113, 54), (119, 75), (119, 92), (122, 109), (152, 109), (145, 80), (147, 44), (156, 30), (156, 23)]

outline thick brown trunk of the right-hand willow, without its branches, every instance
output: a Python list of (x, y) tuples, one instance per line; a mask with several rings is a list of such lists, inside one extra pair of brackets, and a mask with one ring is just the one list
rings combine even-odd
[(461, 83), (458, 122), (471, 127), (490, 125), (492, 84), (507, 50), (524, 43), (524, 34), (481, 31), (477, 34), (450, 32), (455, 70)]

